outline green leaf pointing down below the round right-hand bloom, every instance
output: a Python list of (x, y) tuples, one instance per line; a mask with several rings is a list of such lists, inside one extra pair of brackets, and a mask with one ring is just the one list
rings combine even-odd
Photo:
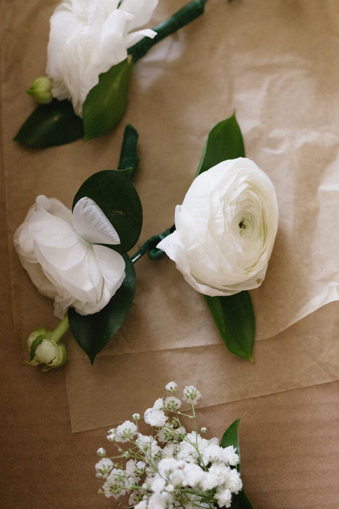
[(249, 292), (228, 297), (204, 297), (227, 348), (253, 362), (255, 317)]

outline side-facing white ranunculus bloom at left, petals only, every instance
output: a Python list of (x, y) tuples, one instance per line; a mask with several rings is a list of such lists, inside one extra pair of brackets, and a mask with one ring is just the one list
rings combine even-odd
[(54, 315), (69, 306), (80, 315), (100, 311), (125, 278), (121, 254), (99, 244), (119, 244), (119, 236), (90, 198), (72, 212), (55, 198), (37, 197), (14, 233), (19, 259), (39, 292), (54, 299)]

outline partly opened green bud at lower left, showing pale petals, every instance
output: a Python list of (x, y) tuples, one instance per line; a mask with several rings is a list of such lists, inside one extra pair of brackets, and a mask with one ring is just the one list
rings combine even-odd
[(34, 330), (27, 340), (30, 351), (28, 363), (33, 366), (44, 364), (42, 371), (62, 366), (66, 362), (67, 352), (64, 343), (51, 340), (51, 334), (52, 332), (39, 328)]

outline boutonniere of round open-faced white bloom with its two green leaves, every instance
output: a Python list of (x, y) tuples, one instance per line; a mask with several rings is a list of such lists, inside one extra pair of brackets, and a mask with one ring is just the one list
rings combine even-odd
[(265, 278), (278, 220), (273, 184), (245, 158), (233, 115), (210, 131), (196, 178), (175, 209), (175, 231), (157, 248), (205, 296), (227, 348), (251, 361), (255, 316), (248, 290)]

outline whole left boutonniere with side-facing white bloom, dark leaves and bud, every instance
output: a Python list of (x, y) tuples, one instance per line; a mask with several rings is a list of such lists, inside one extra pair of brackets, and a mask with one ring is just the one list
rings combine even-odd
[(93, 363), (129, 313), (135, 270), (127, 252), (142, 227), (142, 207), (132, 184), (138, 134), (127, 126), (117, 170), (89, 177), (72, 211), (55, 198), (37, 197), (14, 233), (21, 264), (39, 292), (54, 300), (61, 322), (28, 338), (30, 363), (44, 369), (66, 359), (61, 336), (70, 327)]

